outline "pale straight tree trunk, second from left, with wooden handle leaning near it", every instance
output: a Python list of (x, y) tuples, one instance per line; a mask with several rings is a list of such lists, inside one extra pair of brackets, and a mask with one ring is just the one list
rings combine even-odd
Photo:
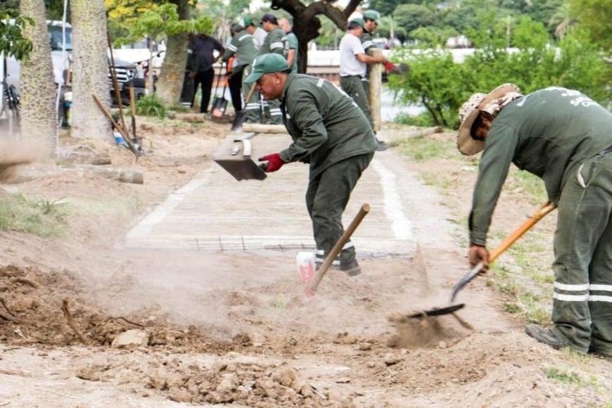
[(92, 95), (110, 108), (107, 27), (103, 0), (71, 0), (72, 136), (112, 140), (110, 123)]

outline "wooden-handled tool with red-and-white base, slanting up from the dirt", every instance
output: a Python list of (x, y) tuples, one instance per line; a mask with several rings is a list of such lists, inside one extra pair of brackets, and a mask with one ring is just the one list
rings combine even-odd
[(323, 279), (323, 276), (325, 276), (327, 270), (331, 267), (333, 260), (336, 259), (345, 243), (348, 242), (352, 233), (359, 227), (359, 223), (362, 222), (362, 219), (364, 219), (369, 211), (370, 205), (366, 203), (362, 204), (362, 208), (359, 208), (359, 212), (357, 212), (355, 218), (344, 231), (344, 234), (340, 236), (336, 245), (331, 248), (331, 251), (329, 251), (329, 254), (323, 261), (323, 264), (321, 264), (321, 267), (319, 267), (317, 273), (314, 272), (314, 254), (312, 252), (298, 253), (298, 274), (300, 275), (300, 280), (304, 285), (304, 291), (308, 297), (314, 296), (314, 293), (317, 292), (319, 283), (321, 283), (321, 279)]

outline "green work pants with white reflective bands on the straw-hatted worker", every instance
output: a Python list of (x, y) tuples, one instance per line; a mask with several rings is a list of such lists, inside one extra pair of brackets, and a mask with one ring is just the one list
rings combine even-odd
[(612, 153), (585, 160), (566, 182), (554, 235), (554, 333), (612, 356)]

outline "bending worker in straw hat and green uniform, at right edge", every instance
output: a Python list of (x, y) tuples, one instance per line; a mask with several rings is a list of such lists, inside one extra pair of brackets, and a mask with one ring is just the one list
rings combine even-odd
[(560, 87), (522, 95), (504, 84), (459, 110), (457, 147), (483, 151), (469, 217), (472, 265), (488, 268), (487, 231), (510, 163), (544, 181), (559, 214), (551, 329), (525, 332), (553, 348), (612, 357), (612, 113)]

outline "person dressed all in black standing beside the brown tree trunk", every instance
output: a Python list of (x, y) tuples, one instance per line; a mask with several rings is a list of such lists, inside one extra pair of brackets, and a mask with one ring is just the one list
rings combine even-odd
[[(216, 38), (210, 37), (207, 34), (200, 33), (192, 38), (191, 50), (193, 51), (192, 55), (195, 59), (195, 66), (189, 75), (193, 78), (194, 88), (191, 108), (193, 108), (193, 102), (196, 99), (196, 93), (201, 84), (200, 113), (208, 115), (210, 91), (212, 89), (212, 81), (215, 79), (215, 70), (212, 68), (212, 65), (217, 62), (217, 59), (225, 52), (225, 49), (223, 44)], [(215, 51), (217, 51), (217, 56), (215, 56)]]

